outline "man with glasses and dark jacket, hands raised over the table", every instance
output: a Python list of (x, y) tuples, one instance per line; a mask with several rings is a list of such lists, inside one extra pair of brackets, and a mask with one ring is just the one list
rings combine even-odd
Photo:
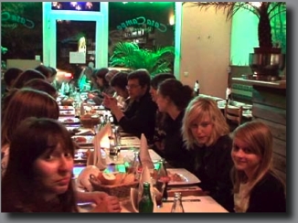
[(103, 105), (111, 109), (114, 120), (122, 127), (125, 133), (133, 133), (137, 137), (141, 134), (147, 138), (148, 143), (152, 142), (154, 135), (154, 121), (156, 104), (152, 101), (150, 89), (150, 75), (146, 69), (137, 69), (127, 77), (126, 86), (130, 103), (125, 112), (117, 106), (117, 100), (109, 95), (104, 95)]

